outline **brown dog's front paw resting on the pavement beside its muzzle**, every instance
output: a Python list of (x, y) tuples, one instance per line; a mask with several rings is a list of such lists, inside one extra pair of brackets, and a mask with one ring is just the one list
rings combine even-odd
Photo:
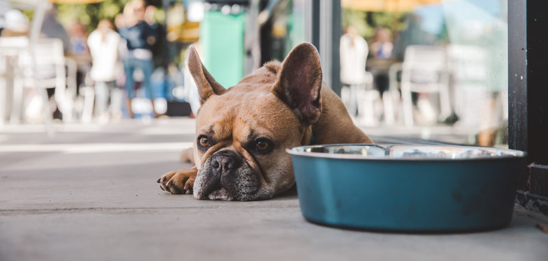
[(162, 175), (156, 182), (160, 184), (162, 191), (172, 194), (192, 194), (194, 180), (198, 174), (198, 169), (179, 169), (169, 171)]

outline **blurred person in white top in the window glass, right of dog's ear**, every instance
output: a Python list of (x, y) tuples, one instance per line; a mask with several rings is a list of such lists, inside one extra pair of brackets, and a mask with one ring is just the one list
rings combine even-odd
[(340, 37), (340, 81), (350, 89), (348, 111), (356, 115), (358, 110), (358, 86), (366, 81), (365, 62), (369, 55), (369, 46), (356, 28), (349, 26)]

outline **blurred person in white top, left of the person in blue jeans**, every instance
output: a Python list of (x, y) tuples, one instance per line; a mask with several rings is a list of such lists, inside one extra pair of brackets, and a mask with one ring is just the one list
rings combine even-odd
[(95, 82), (95, 113), (100, 122), (120, 119), (122, 115), (122, 94), (116, 85), (121, 72), (120, 43), (121, 36), (107, 19), (99, 21), (87, 40), (92, 59), (89, 76)]

